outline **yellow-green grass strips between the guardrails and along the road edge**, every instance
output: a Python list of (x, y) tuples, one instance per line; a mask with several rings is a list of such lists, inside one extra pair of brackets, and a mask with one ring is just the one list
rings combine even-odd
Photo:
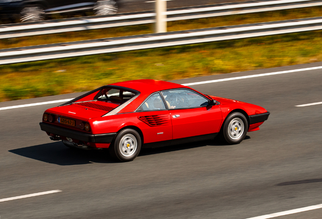
[[(321, 8), (302, 9), (298, 10), (298, 13), (295, 13), (295, 11), (293, 10), (292, 13), (281, 11), (170, 22), (168, 30), (264, 22), (264, 15), (267, 14), (271, 16), (270, 20), (312, 17), (315, 16), (315, 13), (316, 16), (317, 13), (320, 14)], [(307, 16), (307, 14), (310, 16)], [(268, 16), (266, 19), (268, 19)], [(96, 33), (95, 31), (87, 31), (86, 33), (84, 31), (2, 40), (0, 47), (10, 48), (22, 45), (54, 43), (54, 40), (57, 40), (56, 42), (66, 42), (67, 40), (84, 40), (81, 39), (82, 37), (93, 39), (94, 37), (103, 38), (152, 32), (149, 25), (111, 29), (112, 31), (110, 32), (107, 31), (109, 29), (105, 29), (95, 30)], [(101, 33), (104, 34), (104, 31), (108, 32), (108, 34), (105, 36), (100, 35)], [(0, 101), (88, 91), (105, 84), (132, 79), (174, 80), (321, 61), (321, 39), (322, 31), (311, 31), (253, 39), (0, 65)]]

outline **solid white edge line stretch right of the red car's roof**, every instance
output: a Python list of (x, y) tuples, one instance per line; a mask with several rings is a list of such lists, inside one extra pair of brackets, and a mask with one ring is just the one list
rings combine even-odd
[(256, 78), (256, 77), (271, 76), (271, 75), (280, 75), (280, 74), (287, 74), (287, 73), (298, 72), (298, 71), (316, 70), (316, 69), (321, 69), (321, 68), (322, 68), (322, 66), (310, 67), (310, 68), (300, 68), (300, 69), (294, 69), (294, 70), (286, 70), (286, 71), (276, 71), (276, 72), (264, 73), (264, 74), (259, 74), (259, 75), (241, 76), (241, 77), (218, 79), (218, 80), (203, 81), (203, 82), (193, 82), (193, 83), (187, 83), (187, 84), (182, 84), (182, 85), (184, 85), (184, 86), (200, 85), (200, 84), (208, 84), (208, 83), (216, 83), (216, 82), (223, 82), (223, 81), (232, 81), (232, 80), (239, 80), (239, 79)]

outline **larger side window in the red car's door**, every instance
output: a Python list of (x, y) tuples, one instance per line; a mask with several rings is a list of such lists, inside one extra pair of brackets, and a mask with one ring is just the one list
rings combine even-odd
[(208, 105), (208, 99), (188, 89), (163, 91), (163, 96), (168, 107), (171, 108), (194, 108)]

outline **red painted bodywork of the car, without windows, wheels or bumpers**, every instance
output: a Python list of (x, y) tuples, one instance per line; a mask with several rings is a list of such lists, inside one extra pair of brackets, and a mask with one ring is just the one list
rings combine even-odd
[[(170, 82), (156, 80), (134, 80), (112, 84), (123, 88), (132, 89), (136, 92), (131, 99), (124, 100), (124, 103), (106, 99), (104, 101), (96, 98), (100, 90), (92, 94), (78, 98), (73, 103), (47, 109), (45, 113), (56, 116), (56, 121), (43, 123), (53, 126), (67, 128), (79, 133), (92, 135), (115, 134), (121, 129), (130, 127), (136, 129), (142, 136), (144, 143), (153, 143), (172, 139), (186, 138), (198, 135), (217, 133), (232, 111), (244, 112), (246, 116), (266, 113), (263, 107), (240, 102), (236, 100), (200, 95), (207, 99), (217, 100), (220, 104), (200, 106), (195, 108), (165, 109), (154, 111), (135, 112), (136, 109), (154, 92), (169, 89), (191, 89), (186, 86)], [(121, 89), (121, 88), (120, 88)], [(193, 90), (193, 89), (191, 89)], [(193, 90), (195, 91), (195, 90)], [(107, 97), (106, 97), (107, 98)], [(130, 98), (130, 97), (129, 97)], [(83, 102), (82, 102), (83, 101)], [(88, 101), (88, 102), (84, 102)], [(82, 102), (82, 103), (81, 103)], [(207, 103), (207, 102), (206, 102)], [(177, 117), (179, 115), (179, 117)], [(176, 116), (174, 118), (173, 116)], [(68, 126), (58, 122), (57, 118), (74, 120), (75, 126)], [(249, 118), (248, 118), (249, 119)], [(254, 120), (253, 120), (254, 121)], [(82, 124), (89, 123), (90, 130), (81, 130)], [(263, 122), (249, 125), (249, 131), (256, 131)], [(47, 131), (53, 137), (57, 134)], [(67, 140), (68, 136), (62, 136)], [(111, 142), (81, 142), (72, 139), (75, 143), (83, 143), (93, 148), (108, 148)]]

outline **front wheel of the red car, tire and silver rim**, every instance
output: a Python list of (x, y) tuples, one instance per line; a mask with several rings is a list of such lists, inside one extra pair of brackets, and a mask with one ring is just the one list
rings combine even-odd
[(244, 140), (248, 131), (246, 117), (238, 112), (228, 115), (220, 130), (220, 137), (228, 144), (237, 144)]

